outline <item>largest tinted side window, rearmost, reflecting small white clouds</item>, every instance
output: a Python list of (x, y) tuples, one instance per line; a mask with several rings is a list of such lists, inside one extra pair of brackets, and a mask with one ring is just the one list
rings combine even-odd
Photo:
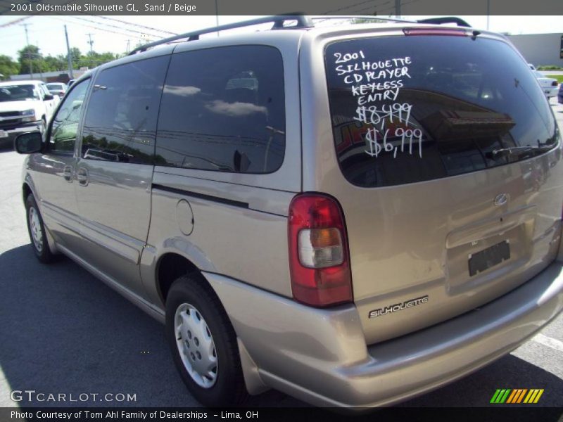
[(285, 152), (284, 69), (269, 46), (172, 55), (160, 106), (156, 165), (270, 173)]

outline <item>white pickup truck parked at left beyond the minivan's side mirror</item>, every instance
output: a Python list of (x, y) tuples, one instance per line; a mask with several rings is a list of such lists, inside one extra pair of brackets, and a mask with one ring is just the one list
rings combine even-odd
[(0, 82), (0, 145), (23, 132), (43, 132), (57, 100), (42, 81)]

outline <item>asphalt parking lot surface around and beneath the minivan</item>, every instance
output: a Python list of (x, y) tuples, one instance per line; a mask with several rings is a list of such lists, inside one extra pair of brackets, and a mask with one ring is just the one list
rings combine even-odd
[[(551, 102), (563, 128), (563, 106)], [(157, 321), (70, 260), (46, 266), (32, 255), (20, 193), (23, 158), (11, 148), (0, 151), (0, 407), (198, 406)], [(543, 388), (537, 406), (563, 407), (563, 315), (506, 357), (403, 406), (486, 407), (497, 388)], [(13, 390), (135, 400), (15, 402)], [(274, 391), (249, 405), (305, 406)]]

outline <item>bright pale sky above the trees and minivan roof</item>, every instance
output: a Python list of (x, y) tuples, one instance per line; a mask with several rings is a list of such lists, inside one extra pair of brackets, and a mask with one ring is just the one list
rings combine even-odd
[[(86, 53), (90, 49), (89, 39), (94, 41), (92, 48), (99, 53), (110, 51), (124, 53), (133, 49), (139, 42), (170, 36), (168, 32), (189, 32), (216, 25), (215, 15), (191, 16), (32, 16), (12, 25), (6, 25), (22, 16), (0, 16), (0, 54), (17, 58), (18, 50), (26, 45), (25, 27), (30, 44), (39, 46), (44, 55), (66, 54), (64, 25), (67, 25), (71, 47)], [(255, 16), (219, 16), (219, 24), (232, 23)], [(403, 18), (427, 18), (403, 16)], [(478, 29), (487, 28), (487, 17), (460, 16), (469, 25)], [(3, 26), (4, 25), (4, 26)], [(499, 16), (489, 17), (488, 27), (495, 32), (511, 34), (563, 33), (562, 16)], [(150, 28), (150, 29), (149, 29)], [(89, 35), (90, 34), (90, 35)], [(215, 36), (212, 35), (212, 36)], [(91, 38), (90, 38), (91, 37)]]

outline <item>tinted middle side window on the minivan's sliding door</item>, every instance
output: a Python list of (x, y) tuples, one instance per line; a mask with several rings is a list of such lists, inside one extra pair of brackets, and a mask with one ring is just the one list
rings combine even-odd
[(82, 131), (82, 157), (153, 164), (158, 104), (170, 56), (103, 70)]

